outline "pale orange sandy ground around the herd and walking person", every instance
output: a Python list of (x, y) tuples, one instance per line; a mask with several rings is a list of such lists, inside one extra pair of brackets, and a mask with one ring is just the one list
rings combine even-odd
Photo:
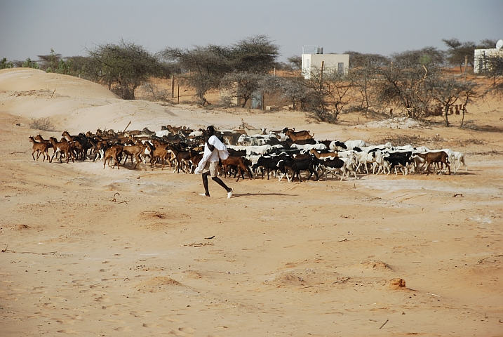
[[(501, 133), (128, 102), (36, 70), (1, 70), (0, 103), (1, 336), (503, 336)], [(488, 101), (465, 119), (502, 126), (502, 116)], [(59, 131), (29, 128), (31, 117)], [(462, 151), (468, 170), (227, 178), (231, 199), (211, 181), (203, 198), (201, 176), (34, 161), (28, 141), (241, 118), (318, 139), (435, 139), (416, 145)]]

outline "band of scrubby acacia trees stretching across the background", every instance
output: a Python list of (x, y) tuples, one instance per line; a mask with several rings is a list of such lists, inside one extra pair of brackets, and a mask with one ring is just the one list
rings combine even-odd
[[(335, 122), (339, 114), (354, 110), (377, 112), (398, 110), (422, 119), (442, 109), (445, 125), (453, 105), (466, 107), (485, 94), (476, 81), (467, 80), (466, 66), (474, 66), (475, 48), (494, 48), (496, 41), (481, 44), (443, 39), (446, 51), (427, 47), (390, 56), (347, 51), (349, 69), (344, 72), (316, 69), (311, 77), (276, 77), (273, 70), (300, 70), (302, 59), (291, 56), (278, 62), (279, 46), (269, 37), (257, 35), (230, 46), (209, 44), (194, 48), (166, 47), (150, 53), (127, 41), (100, 44), (86, 56), (62, 58), (51, 49), (39, 60), (0, 60), (0, 69), (32, 67), (98, 82), (126, 100), (135, 99), (135, 89), (152, 77), (176, 76), (196, 91), (196, 100), (209, 105), (206, 94), (227, 93), (223, 105), (236, 102), (245, 107), (255, 93), (276, 95), (295, 110), (313, 112), (321, 121)], [(485, 62), (492, 79), (491, 91), (503, 93), (503, 57), (491, 55)], [(463, 65), (465, 66), (463, 69)], [(460, 72), (446, 71), (460, 67)]]

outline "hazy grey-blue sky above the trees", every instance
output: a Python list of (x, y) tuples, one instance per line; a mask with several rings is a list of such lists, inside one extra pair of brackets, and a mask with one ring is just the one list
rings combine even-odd
[(503, 0), (0, 0), (0, 58), (63, 57), (121, 39), (156, 53), (167, 46), (231, 45), (257, 34), (281, 58), (303, 45), (324, 53), (391, 53), (442, 39), (503, 39)]

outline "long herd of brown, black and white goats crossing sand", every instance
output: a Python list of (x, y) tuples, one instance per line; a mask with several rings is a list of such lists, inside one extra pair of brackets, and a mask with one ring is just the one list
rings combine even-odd
[[(357, 174), (398, 174), (431, 173), (433, 168), (436, 173), (456, 173), (464, 162), (462, 152), (450, 149), (429, 150), (427, 147), (414, 147), (405, 145), (394, 147), (391, 143), (384, 145), (368, 145), (363, 140), (315, 140), (309, 131), (295, 131), (284, 128), (283, 130), (270, 131), (265, 134), (265, 129), (248, 128), (241, 126), (236, 131), (215, 131), (216, 136), (227, 145), (229, 158), (221, 161), (220, 172), (224, 176), (234, 176), (237, 180), (251, 179), (253, 176), (274, 175), (281, 180), (286, 177), (293, 181), (295, 177), (302, 181), (300, 172), (305, 172), (309, 180), (315, 180), (328, 174), (340, 180)], [(161, 166), (166, 164), (175, 167), (175, 172), (194, 173), (194, 169), (203, 157), (203, 146), (206, 139), (206, 130), (194, 131), (190, 128), (162, 126), (161, 131), (153, 132), (148, 128), (142, 131), (123, 131), (116, 133), (112, 130), (101, 131), (95, 134), (79, 133), (72, 136), (67, 131), (62, 133), (62, 138), (54, 137), (48, 140), (41, 135), (29, 137), (33, 143), (32, 157), (38, 160), (43, 156), (49, 162), (54, 157), (67, 163), (72, 160), (86, 160), (94, 155), (93, 161), (103, 160), (103, 169), (108, 165), (114, 168), (122, 163), (126, 166), (128, 158), (130, 165), (136, 169), (138, 164)], [(48, 149), (53, 149), (52, 156)], [(35, 158), (36, 152), (36, 158)], [(112, 164), (112, 165), (111, 165)], [(237, 181), (236, 180), (236, 181)]]

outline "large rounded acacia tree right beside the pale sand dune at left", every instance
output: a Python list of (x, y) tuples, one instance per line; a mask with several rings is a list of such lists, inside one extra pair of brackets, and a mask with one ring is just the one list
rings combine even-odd
[(100, 44), (88, 50), (90, 77), (105, 82), (125, 100), (135, 99), (135, 89), (163, 67), (158, 58), (145, 48), (121, 40), (119, 44)]

